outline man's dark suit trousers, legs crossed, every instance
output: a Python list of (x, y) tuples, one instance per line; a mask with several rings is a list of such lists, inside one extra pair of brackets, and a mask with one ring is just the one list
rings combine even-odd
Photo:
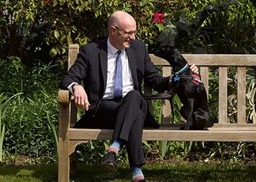
[(147, 111), (146, 100), (132, 90), (122, 100), (102, 100), (95, 116), (97, 127), (114, 129), (113, 141), (127, 146), (130, 167), (145, 164), (142, 132)]

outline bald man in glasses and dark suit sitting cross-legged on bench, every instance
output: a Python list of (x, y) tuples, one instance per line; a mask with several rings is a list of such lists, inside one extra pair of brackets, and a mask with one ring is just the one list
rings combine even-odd
[[(141, 84), (165, 92), (171, 79), (159, 76), (146, 45), (135, 39), (136, 28), (127, 12), (114, 12), (108, 20), (108, 38), (80, 47), (61, 89), (68, 89), (75, 105), (86, 110), (75, 127), (113, 129), (113, 143), (102, 165), (116, 171), (118, 150), (126, 146), (132, 182), (143, 182), (143, 126), (159, 125), (148, 111)], [(195, 64), (191, 68), (198, 71)]]

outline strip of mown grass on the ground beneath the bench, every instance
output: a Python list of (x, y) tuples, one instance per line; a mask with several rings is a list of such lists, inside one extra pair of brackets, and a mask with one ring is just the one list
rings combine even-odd
[[(147, 181), (256, 181), (256, 165), (145, 165)], [(1, 182), (58, 181), (58, 165), (1, 165)], [(78, 165), (70, 181), (128, 182), (128, 165), (119, 165), (117, 173), (108, 173), (99, 165)]]

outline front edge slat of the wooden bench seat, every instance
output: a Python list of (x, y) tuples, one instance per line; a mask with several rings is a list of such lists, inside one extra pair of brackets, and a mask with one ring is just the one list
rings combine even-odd
[[(111, 140), (112, 134), (113, 130), (72, 128), (69, 140)], [(256, 130), (143, 130), (145, 141), (255, 141), (255, 138)]]

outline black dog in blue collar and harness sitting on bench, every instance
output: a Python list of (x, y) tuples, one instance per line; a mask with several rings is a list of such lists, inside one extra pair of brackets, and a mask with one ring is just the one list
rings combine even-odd
[(209, 120), (208, 99), (200, 75), (191, 71), (187, 60), (175, 47), (166, 45), (154, 49), (153, 53), (170, 63), (173, 67), (173, 77), (167, 92), (152, 95), (151, 99), (172, 99), (173, 95), (177, 94), (183, 104), (181, 116), (187, 120), (184, 130), (208, 130), (214, 123)]

